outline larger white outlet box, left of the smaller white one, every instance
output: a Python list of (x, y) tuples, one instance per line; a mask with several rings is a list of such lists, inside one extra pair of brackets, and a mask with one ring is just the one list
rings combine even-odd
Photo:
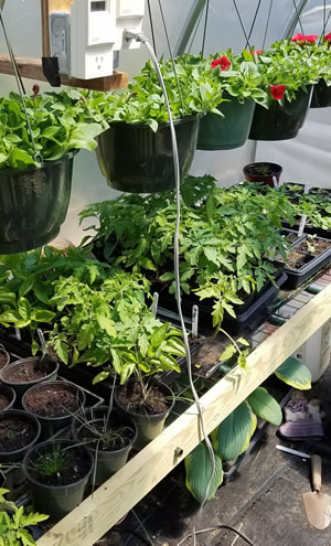
[(71, 7), (71, 75), (111, 76), (116, 42), (116, 0), (75, 0)]

